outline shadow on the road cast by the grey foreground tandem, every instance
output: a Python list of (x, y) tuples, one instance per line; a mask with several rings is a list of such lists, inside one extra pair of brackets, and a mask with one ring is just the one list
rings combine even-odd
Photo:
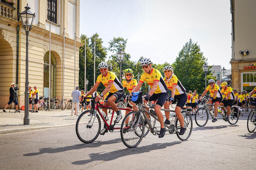
[(151, 144), (143, 147), (137, 147), (137, 148), (126, 148), (122, 150), (112, 151), (108, 153), (101, 154), (100, 153), (92, 153), (89, 154), (90, 158), (89, 160), (81, 160), (81, 161), (75, 161), (72, 164), (73, 165), (84, 165), (88, 164), (93, 161), (112, 161), (120, 157), (129, 156), (129, 155), (135, 155), (135, 154), (142, 154), (147, 153), (153, 150), (159, 150), (164, 149), (170, 146), (174, 146), (177, 144), (180, 144), (185, 141), (178, 141), (178, 142), (171, 142), (171, 143), (156, 143)]

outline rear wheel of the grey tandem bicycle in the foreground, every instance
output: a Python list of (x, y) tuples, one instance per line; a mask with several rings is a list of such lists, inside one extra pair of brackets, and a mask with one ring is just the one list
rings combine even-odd
[(178, 131), (180, 131), (181, 129), (181, 124), (179, 122), (179, 120), (176, 120), (176, 134), (177, 137), (182, 140), (185, 141), (187, 139), (189, 139), (191, 133), (192, 133), (192, 129), (193, 129), (193, 120), (192, 120), (192, 116), (187, 112), (187, 111), (182, 111), (181, 114), (183, 115), (184, 118), (184, 126), (186, 128), (186, 131), (183, 135), (180, 135)]

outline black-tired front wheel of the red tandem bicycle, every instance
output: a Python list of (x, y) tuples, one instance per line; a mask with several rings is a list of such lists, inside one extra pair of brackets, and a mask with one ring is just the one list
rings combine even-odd
[[(91, 115), (89, 116), (90, 113), (91, 113)], [(75, 125), (76, 136), (78, 137), (78, 139), (81, 142), (86, 143), (86, 144), (92, 143), (93, 141), (95, 141), (100, 134), (101, 122), (100, 122), (99, 115), (97, 113), (95, 115), (96, 119), (92, 125), (92, 127), (95, 127), (95, 131), (97, 131), (97, 132), (93, 132), (94, 134), (92, 133), (92, 130), (91, 130), (92, 127), (88, 127), (89, 122), (86, 122), (86, 120), (85, 120), (86, 118), (88, 118), (88, 121), (91, 121), (94, 118), (93, 116), (94, 116), (93, 110), (86, 110), (86, 111), (82, 112), (76, 120), (76, 125)], [(84, 122), (81, 122), (82, 120)], [(85, 126), (85, 124), (86, 124), (86, 126)], [(97, 125), (98, 125), (98, 127), (97, 127)], [(82, 128), (84, 128), (84, 130), (86, 130), (86, 133), (91, 136), (91, 139), (85, 139), (85, 137), (83, 137), (83, 135), (86, 135), (86, 133), (85, 133), (85, 131), (83, 133), (80, 133), (80, 131), (82, 131)]]

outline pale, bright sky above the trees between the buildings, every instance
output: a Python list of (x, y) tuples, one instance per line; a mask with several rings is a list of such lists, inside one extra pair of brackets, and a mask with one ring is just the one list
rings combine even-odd
[(172, 64), (192, 38), (209, 65), (231, 68), (230, 0), (80, 0), (80, 34), (95, 32), (105, 47), (113, 37), (128, 39), (132, 60), (156, 64)]

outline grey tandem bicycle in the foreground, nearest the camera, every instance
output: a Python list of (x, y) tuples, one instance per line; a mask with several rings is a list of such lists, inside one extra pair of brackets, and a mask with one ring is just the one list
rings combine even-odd
[[(151, 108), (151, 109), (148, 111), (145, 109), (145, 107)], [(155, 111), (153, 110), (154, 107), (148, 106), (147, 104), (142, 104), (142, 100), (141, 100), (141, 102), (138, 104), (138, 108), (139, 108), (138, 111), (131, 111), (130, 113), (128, 113), (124, 117), (121, 124), (121, 131), (120, 131), (121, 139), (124, 145), (127, 146), (128, 148), (134, 148), (140, 144), (142, 138), (145, 136), (144, 135), (145, 127), (149, 129), (149, 131), (153, 135), (159, 135), (159, 132), (160, 132), (157, 129), (159, 127), (156, 126), (156, 122), (157, 121), (159, 122), (159, 120), (157, 118)], [(187, 140), (190, 137), (192, 133), (192, 128), (193, 128), (192, 117), (189, 114), (189, 112), (187, 110), (181, 112), (184, 117), (184, 125), (186, 128), (186, 131), (183, 135), (180, 135), (178, 131), (180, 131), (181, 125), (178, 121), (178, 118), (175, 116), (175, 111), (168, 110), (168, 109), (161, 109), (161, 110), (174, 113), (171, 124), (170, 125), (164, 124), (164, 126), (167, 128), (166, 131), (169, 132), (170, 134), (176, 134), (177, 137), (182, 141)], [(146, 113), (150, 115), (150, 121), (148, 118), (146, 118), (147, 117)], [(125, 123), (127, 121), (128, 121), (128, 125), (126, 125)], [(144, 125), (144, 121), (147, 122), (146, 126)]]

